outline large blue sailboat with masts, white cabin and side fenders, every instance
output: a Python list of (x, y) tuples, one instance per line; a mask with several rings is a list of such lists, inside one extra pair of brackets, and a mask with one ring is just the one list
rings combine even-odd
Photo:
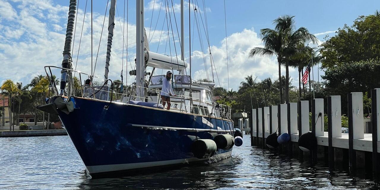
[[(110, 25), (114, 22), (115, 3), (116, 0), (111, 0)], [(183, 7), (183, 0), (181, 3)], [(120, 98), (114, 98), (117, 92), (108, 79), (110, 54), (103, 86), (93, 85), (93, 79), (97, 78), (93, 73), (71, 67), (76, 0), (70, 0), (62, 67), (45, 67), (49, 79), (52, 69), (60, 69), (61, 81), (59, 89), (50, 81), (55, 96), (38, 109), (59, 115), (92, 177), (222, 160), (231, 156), (234, 137), (242, 136), (233, 127), (231, 109), (213, 100), (214, 83), (194, 82), (185, 75), (188, 64), (183, 55), (178, 60), (144, 47), (143, 8), (144, 1), (136, 0), (136, 84), (125, 89)], [(109, 27), (111, 44), (112, 36), (113, 27)], [(111, 46), (108, 48), (110, 53)], [(163, 109), (160, 100), (164, 76), (152, 73), (147, 79), (146, 67), (179, 71), (173, 78), (176, 96), (171, 97), (170, 110)], [(73, 73), (78, 73), (81, 82), (83, 76), (88, 76), (80, 89), (74, 89)], [(75, 90), (80, 90), (79, 95)]]

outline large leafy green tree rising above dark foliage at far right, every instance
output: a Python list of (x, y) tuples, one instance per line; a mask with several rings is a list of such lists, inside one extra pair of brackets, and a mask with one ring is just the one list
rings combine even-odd
[(359, 16), (352, 26), (338, 28), (333, 37), (326, 36), (321, 54), (323, 68), (347, 65), (380, 55), (380, 14)]

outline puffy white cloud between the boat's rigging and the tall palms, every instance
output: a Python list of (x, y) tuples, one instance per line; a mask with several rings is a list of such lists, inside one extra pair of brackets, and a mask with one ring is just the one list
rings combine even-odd
[[(227, 37), (228, 44), (228, 70), (226, 62), (226, 41), (220, 41), (220, 46), (211, 46), (212, 56), (214, 58), (215, 67), (218, 73), (214, 74), (217, 86), (228, 87), (228, 76), (230, 89), (237, 90), (241, 81), (249, 75), (258, 77), (259, 80), (271, 77), (272, 79), (278, 78), (278, 65), (274, 57), (253, 57), (248, 58), (248, 53), (253, 47), (263, 47), (261, 39), (258, 38), (257, 33), (251, 29), (244, 29), (242, 32), (233, 33)], [(211, 65), (209, 62), (209, 53), (204, 53), (206, 57), (209, 77), (211, 74)], [(194, 52), (192, 56), (192, 63), (204, 65), (202, 52)], [(296, 72), (290, 68), (290, 73)], [(282, 68), (285, 73), (285, 68)], [(228, 74), (229, 73), (229, 74)], [(206, 71), (204, 69), (194, 72), (194, 79), (206, 78)], [(298, 76), (298, 75), (297, 75)]]

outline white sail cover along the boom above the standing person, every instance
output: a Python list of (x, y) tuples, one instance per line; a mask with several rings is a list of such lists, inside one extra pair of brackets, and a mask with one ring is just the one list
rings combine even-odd
[(187, 63), (180, 58), (169, 57), (151, 51), (146, 52), (145, 60), (147, 61), (146, 65), (149, 67), (168, 70), (184, 70), (187, 67)]

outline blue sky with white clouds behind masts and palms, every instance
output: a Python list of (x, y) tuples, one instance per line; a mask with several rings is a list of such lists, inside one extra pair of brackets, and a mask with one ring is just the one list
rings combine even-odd
[[(60, 67), (63, 59), (69, 2), (69, 0), (0, 0), (0, 82), (12, 79), (14, 82), (22, 82), (25, 85), (34, 76), (46, 75), (44, 66)], [(93, 1), (93, 38), (91, 40), (90, 2), (87, 0), (86, 10), (86, 0), (79, 0), (78, 3), (72, 55), (73, 67), (81, 72), (91, 73), (92, 60), (95, 76), (103, 77), (108, 35), (106, 8), (109, 9), (109, 5), (107, 5), (107, 0)], [(127, 75), (135, 67), (135, 3), (135, 1), (127, 0), (117, 1), (109, 67), (110, 79), (120, 80), (123, 69), (123, 82), (128, 84), (135, 81), (134, 76)], [(170, 16), (169, 13), (166, 14), (168, 20), (171, 20), (171, 25), (170, 22), (167, 24), (165, 21), (165, 13), (168, 12), (165, 10), (166, 6), (171, 11)], [(173, 0), (172, 4), (171, 0), (145, 0), (144, 7), (144, 27), (149, 36), (150, 51), (179, 57), (180, 33), (177, 31), (180, 32), (180, 1)], [(189, 62), (189, 44), (191, 44), (192, 78), (195, 80), (214, 78), (216, 86), (238, 90), (240, 82), (251, 74), (258, 80), (268, 77), (274, 80), (278, 78), (275, 57), (248, 58), (250, 49), (263, 47), (260, 29), (273, 28), (272, 21), (277, 17), (285, 14), (295, 16), (296, 27), (306, 27), (310, 33), (316, 35), (320, 42), (311, 45), (318, 46), (323, 43), (326, 35), (334, 36), (335, 31), (342, 28), (344, 24), (352, 25), (358, 16), (373, 14), (376, 9), (380, 9), (380, 1), (191, 0), (190, 32), (188, 7), (188, 1), (185, 1), (184, 52), (185, 61)], [(197, 9), (196, 17), (194, 7)], [(85, 11), (86, 16), (84, 16)], [(105, 26), (102, 33), (104, 20)], [(128, 44), (128, 51), (126, 47), (122, 48), (123, 41)], [(209, 47), (213, 58), (212, 70)], [(315, 81), (317, 81), (318, 74), (323, 75), (323, 71), (318, 70), (317, 67), (314, 67), (313, 71)], [(158, 69), (154, 75), (165, 72), (166, 70)], [(189, 68), (186, 72), (190, 73)], [(59, 78), (60, 70), (55, 69), (53, 73)], [(284, 68), (282, 74), (285, 75)], [(290, 69), (290, 76), (293, 78), (293, 85), (298, 86), (298, 73), (295, 69)]]

